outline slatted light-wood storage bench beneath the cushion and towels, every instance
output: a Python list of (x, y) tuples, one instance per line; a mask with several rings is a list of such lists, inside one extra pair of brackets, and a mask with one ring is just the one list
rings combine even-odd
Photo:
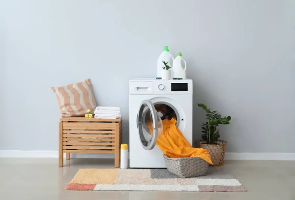
[(115, 154), (119, 167), (119, 148), (122, 143), (122, 119), (64, 117), (59, 122), (59, 167), (63, 167), (63, 153)]

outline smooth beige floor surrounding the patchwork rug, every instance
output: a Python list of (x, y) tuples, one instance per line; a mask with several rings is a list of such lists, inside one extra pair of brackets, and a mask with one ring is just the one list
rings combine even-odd
[(245, 193), (66, 191), (79, 168), (113, 168), (112, 159), (0, 158), (0, 200), (295, 200), (295, 161), (226, 161)]

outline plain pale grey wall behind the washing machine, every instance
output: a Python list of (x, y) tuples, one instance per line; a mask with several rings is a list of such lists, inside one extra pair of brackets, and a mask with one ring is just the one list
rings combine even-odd
[(204, 102), (231, 115), (229, 152), (295, 152), (294, 0), (2, 0), (0, 149), (57, 150), (51, 86), (90, 78), (119, 106), (128, 142), (128, 80), (155, 77), (164, 45), (187, 61), (194, 139)]

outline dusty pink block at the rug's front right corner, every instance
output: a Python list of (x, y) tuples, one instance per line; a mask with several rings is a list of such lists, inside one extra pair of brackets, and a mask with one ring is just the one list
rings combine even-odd
[(242, 185), (199, 185), (200, 192), (246, 192)]

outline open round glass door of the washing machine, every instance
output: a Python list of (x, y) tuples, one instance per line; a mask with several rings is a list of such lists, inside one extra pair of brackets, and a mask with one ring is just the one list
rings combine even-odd
[(143, 100), (140, 104), (137, 127), (142, 147), (146, 150), (153, 149), (157, 138), (163, 133), (163, 124), (150, 100)]

